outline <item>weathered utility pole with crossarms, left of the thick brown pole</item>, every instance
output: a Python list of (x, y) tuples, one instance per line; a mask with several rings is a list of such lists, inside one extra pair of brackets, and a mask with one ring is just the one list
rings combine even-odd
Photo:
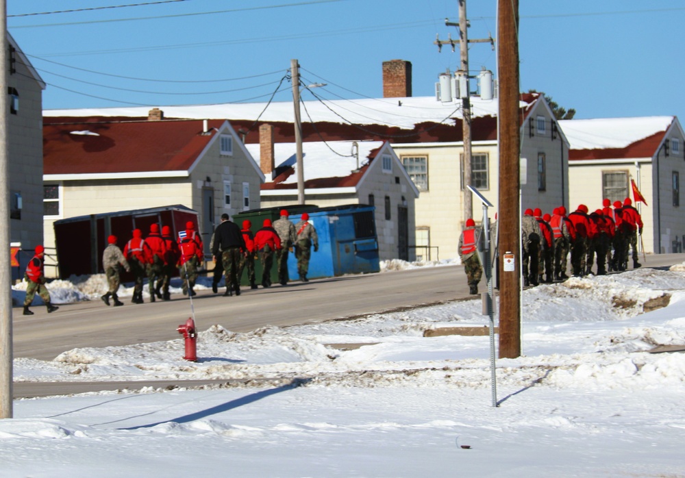
[(469, 21), (466, 18), (466, 0), (459, 0), (459, 23), (450, 23), (445, 18), (445, 25), (449, 27), (458, 27), (459, 40), (453, 40), (448, 36), (448, 40), (435, 40), (435, 45), (441, 49), (443, 45), (451, 45), (454, 51), (454, 45), (459, 44), (460, 53), (460, 69), (456, 75), (464, 77), (465, 81), (460, 81), (460, 84), (466, 85), (466, 91), (460, 91), (462, 97), (462, 137), (464, 143), (464, 221), (473, 217), (473, 195), (469, 186), (471, 186), (471, 88), (469, 88), (469, 43), (484, 43), (490, 42), (494, 45), (492, 38), (481, 38), (479, 40), (469, 40), (468, 29)]

